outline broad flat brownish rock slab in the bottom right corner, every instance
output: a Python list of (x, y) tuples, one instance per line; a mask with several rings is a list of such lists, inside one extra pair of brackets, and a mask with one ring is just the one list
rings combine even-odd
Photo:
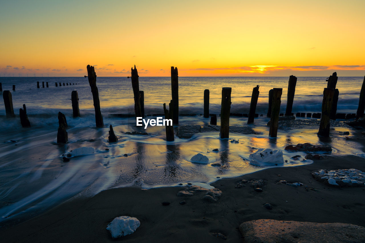
[(239, 226), (243, 242), (260, 243), (360, 243), (365, 228), (354, 224), (311, 223), (259, 219)]

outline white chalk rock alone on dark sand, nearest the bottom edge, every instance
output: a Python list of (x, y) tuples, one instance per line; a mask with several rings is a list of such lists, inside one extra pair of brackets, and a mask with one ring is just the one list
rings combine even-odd
[(141, 225), (138, 219), (129, 216), (120, 216), (113, 219), (108, 224), (107, 229), (112, 234), (112, 238), (119, 238), (132, 234)]

